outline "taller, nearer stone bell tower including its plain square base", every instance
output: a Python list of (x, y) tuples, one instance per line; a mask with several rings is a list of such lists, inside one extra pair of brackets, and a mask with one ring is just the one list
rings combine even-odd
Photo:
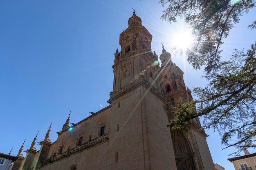
[[(110, 155), (125, 163), (110, 169), (176, 170), (158, 57), (151, 51), (152, 35), (135, 12), (120, 34), (110, 92)], [(119, 131), (111, 131), (117, 129)], [(127, 168), (125, 168), (127, 167)]]

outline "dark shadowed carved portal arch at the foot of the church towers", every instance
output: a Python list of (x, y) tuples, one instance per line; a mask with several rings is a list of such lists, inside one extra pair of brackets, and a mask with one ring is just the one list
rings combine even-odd
[(171, 134), (177, 170), (196, 170), (189, 140), (182, 131)]

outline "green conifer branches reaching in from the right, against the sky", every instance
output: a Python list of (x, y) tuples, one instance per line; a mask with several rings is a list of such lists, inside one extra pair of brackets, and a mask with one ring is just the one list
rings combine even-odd
[[(220, 46), (239, 17), (255, 6), (253, 0), (160, 0), (168, 4), (162, 18), (181, 17), (193, 28), (197, 41), (186, 51), (194, 69), (205, 66), (207, 87), (193, 88), (196, 100), (173, 107), (170, 126), (188, 130), (193, 118), (203, 117), (203, 128), (214, 128), (222, 144), (241, 150), (256, 147), (256, 43), (246, 52), (235, 49), (228, 61), (221, 60)], [(256, 28), (254, 21), (248, 28)], [(196, 107), (195, 107), (196, 106)]]

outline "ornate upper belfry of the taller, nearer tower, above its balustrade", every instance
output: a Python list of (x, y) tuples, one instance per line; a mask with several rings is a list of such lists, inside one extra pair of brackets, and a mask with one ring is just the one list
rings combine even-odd
[[(141, 19), (135, 12), (128, 20), (128, 28), (120, 34), (121, 52), (116, 51), (113, 92), (129, 85), (139, 76), (153, 84), (162, 94), (162, 83), (159, 74), (157, 55), (151, 52), (152, 35), (141, 24)], [(155, 80), (155, 83), (153, 81)]]

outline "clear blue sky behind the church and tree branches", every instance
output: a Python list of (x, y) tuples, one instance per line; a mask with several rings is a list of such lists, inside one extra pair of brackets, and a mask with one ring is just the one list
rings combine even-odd
[[(152, 50), (160, 55), (160, 43), (172, 41), (183, 24), (162, 21), (164, 8), (158, 0), (0, 1), (0, 152), (9, 153), (13, 146), (12, 155), (17, 155), (23, 140), (27, 138), (25, 150), (37, 131), (37, 142), (42, 141), (51, 122), (53, 142), (70, 110), (76, 123), (88, 111), (108, 106), (114, 53), (132, 7), (153, 35)], [(222, 46), (224, 56), (254, 43), (256, 31), (247, 26), (255, 16), (253, 9), (241, 17)], [(170, 46), (166, 50), (173, 54)], [(200, 78), (202, 71), (192, 70), (184, 57), (173, 55), (173, 61), (190, 88), (207, 84)], [(227, 155), (234, 148), (222, 150), (219, 134), (207, 134), (213, 161), (233, 170)]]

